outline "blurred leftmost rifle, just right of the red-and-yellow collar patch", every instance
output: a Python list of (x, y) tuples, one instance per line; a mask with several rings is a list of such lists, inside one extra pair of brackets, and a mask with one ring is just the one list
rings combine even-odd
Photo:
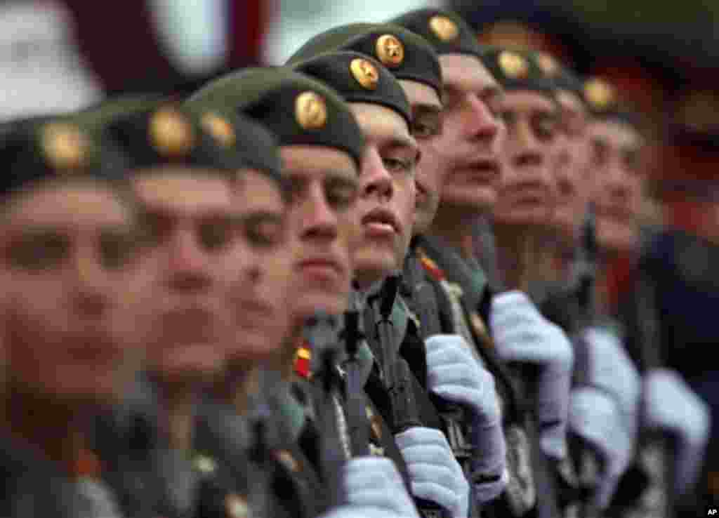
[(305, 338), (312, 345), (312, 372), (319, 379), (316, 394), (317, 425), (321, 433), (320, 464), (328, 489), (329, 507), (345, 503), (342, 467), (351, 457), (347, 422), (340, 403), (342, 378), (337, 369), (338, 321), (333, 315), (315, 313), (305, 326)]

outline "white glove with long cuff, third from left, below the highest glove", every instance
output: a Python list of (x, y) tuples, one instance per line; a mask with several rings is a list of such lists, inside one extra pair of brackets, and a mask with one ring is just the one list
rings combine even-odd
[[(494, 376), (472, 356), (459, 335), (436, 335), (426, 341), (427, 386), (447, 402), (467, 410), (472, 431), (472, 479), (477, 504), (497, 498), (507, 484), (507, 445)], [(490, 479), (490, 480), (487, 480)]]

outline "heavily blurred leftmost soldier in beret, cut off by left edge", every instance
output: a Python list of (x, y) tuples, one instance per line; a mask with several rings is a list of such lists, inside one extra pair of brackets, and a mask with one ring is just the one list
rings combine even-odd
[(90, 425), (142, 358), (132, 329), (146, 276), (127, 162), (106, 139), (52, 116), (13, 124), (0, 156), (0, 512), (120, 516)]

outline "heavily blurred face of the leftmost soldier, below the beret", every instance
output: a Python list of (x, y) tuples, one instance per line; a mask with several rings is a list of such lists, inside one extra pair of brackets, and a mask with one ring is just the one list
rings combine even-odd
[(142, 356), (134, 211), (106, 185), (64, 182), (17, 195), (3, 217), (9, 375), (44, 397), (115, 399)]

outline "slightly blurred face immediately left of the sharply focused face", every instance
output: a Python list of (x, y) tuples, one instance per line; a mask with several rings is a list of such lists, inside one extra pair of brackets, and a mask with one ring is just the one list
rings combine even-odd
[(291, 191), (296, 317), (342, 313), (352, 282), (357, 167), (349, 154), (329, 147), (286, 146), (280, 154)]

